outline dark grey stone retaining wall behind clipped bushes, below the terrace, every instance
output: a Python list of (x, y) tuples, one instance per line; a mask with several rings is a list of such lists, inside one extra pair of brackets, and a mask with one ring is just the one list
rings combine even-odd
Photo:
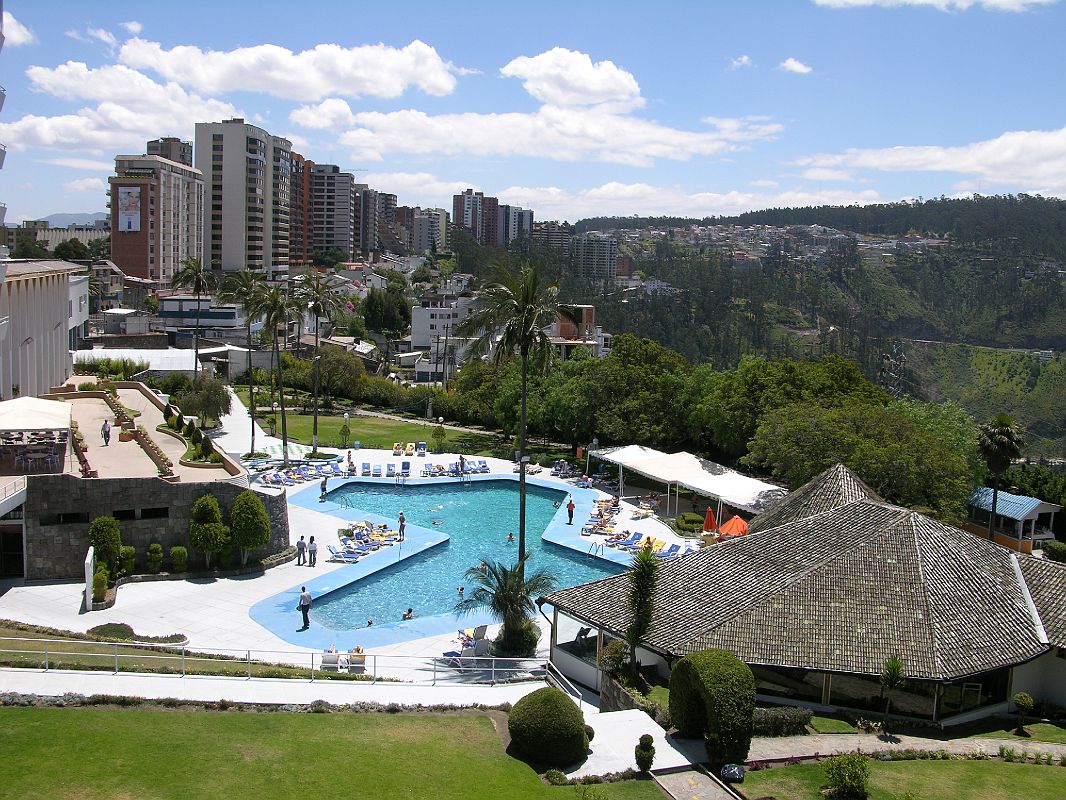
[[(119, 519), (123, 544), (136, 548), (136, 563), (143, 569), (148, 545), (159, 542), (163, 553), (181, 545), (189, 549), (192, 569), (204, 557), (189, 545), (189, 522), (193, 503), (204, 494), (219, 498), (223, 515), (244, 490), (232, 483), (169, 483), (159, 478), (97, 478), (84, 480), (71, 475), (31, 475), (26, 481), (26, 578), (27, 580), (80, 580), (88, 546), (88, 522), (97, 516), (114, 516), (132, 511), (138, 518)], [(288, 502), (284, 493), (259, 494), (271, 521), (271, 541), (252, 558), (263, 558), (289, 546)], [(166, 508), (165, 518), (141, 518), (144, 509)], [(85, 515), (86, 522), (54, 522), (60, 515)]]

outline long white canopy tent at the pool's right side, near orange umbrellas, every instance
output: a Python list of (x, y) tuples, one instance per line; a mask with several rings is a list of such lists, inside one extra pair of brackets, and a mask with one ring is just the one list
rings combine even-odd
[[(621, 481), (623, 468), (665, 483), (667, 513), (669, 513), (669, 487), (672, 484), (675, 493), (684, 486), (696, 494), (716, 498), (720, 517), (723, 502), (757, 514), (788, 493), (787, 490), (775, 486), (773, 483), (748, 478), (736, 469), (684, 451), (666, 453), (641, 445), (627, 445), (597, 450), (592, 453), (592, 457), (618, 465), (619, 492), (625, 490)], [(674, 513), (677, 513), (676, 505)]]

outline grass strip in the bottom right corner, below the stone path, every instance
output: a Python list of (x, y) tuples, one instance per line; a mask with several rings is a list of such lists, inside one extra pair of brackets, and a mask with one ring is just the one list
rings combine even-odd
[[(870, 764), (870, 800), (895, 800), (906, 791), (921, 800), (1033, 800), (1061, 797), (1066, 769), (1001, 762), (889, 762)], [(749, 772), (748, 797), (821, 800), (821, 764)]]

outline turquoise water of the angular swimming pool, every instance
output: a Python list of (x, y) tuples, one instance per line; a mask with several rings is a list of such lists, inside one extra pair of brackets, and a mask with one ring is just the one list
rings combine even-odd
[[(420, 618), (449, 614), (458, 598), (456, 588), (464, 586), (469, 591), (471, 587), (464, 579), (469, 567), (482, 559), (510, 564), (518, 558), (517, 542), (506, 541), (508, 531), (518, 538), (518, 485), (514, 481), (427, 485), (356, 482), (334, 490), (328, 499), (392, 519), (403, 511), (408, 528), (419, 526), (450, 537), (443, 544), (317, 599), (316, 620), (333, 630), (362, 628), (368, 619), (374, 620), (375, 626), (393, 623), (408, 608)], [(559, 512), (552, 505), (555, 501), (565, 502), (566, 493), (527, 486), (527, 571), (551, 572), (560, 588), (621, 572), (619, 565), (540, 538)]]

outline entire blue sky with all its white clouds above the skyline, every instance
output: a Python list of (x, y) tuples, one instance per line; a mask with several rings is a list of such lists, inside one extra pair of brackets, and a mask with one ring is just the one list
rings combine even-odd
[(1066, 0), (4, 9), (9, 222), (235, 114), (401, 205), (537, 219), (1066, 196)]

